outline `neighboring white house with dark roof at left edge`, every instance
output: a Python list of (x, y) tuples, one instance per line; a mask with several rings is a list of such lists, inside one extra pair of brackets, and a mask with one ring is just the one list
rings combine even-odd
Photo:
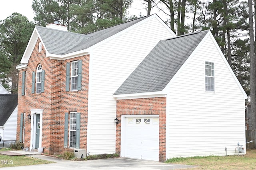
[(0, 94), (0, 135), (4, 141), (16, 141), (18, 95)]

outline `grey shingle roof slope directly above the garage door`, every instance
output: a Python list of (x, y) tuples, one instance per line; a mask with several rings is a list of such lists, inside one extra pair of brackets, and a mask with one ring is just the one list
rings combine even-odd
[(159, 41), (114, 95), (164, 90), (208, 31)]

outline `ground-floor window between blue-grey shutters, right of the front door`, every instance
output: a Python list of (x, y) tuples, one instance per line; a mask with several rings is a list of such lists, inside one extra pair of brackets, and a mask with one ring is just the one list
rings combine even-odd
[(76, 112), (70, 112), (69, 120), (69, 147), (76, 147)]

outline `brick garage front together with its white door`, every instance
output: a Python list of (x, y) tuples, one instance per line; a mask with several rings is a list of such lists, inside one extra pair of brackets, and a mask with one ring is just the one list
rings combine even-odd
[(116, 100), (116, 153), (166, 160), (166, 97)]

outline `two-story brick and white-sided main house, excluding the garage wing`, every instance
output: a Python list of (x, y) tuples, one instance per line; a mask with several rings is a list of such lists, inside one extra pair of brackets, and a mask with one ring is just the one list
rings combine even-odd
[(16, 67), (17, 139), (50, 154), (64, 148), (116, 152), (113, 94), (158, 41), (169, 37), (176, 35), (156, 14), (86, 35), (54, 23), (36, 26)]

